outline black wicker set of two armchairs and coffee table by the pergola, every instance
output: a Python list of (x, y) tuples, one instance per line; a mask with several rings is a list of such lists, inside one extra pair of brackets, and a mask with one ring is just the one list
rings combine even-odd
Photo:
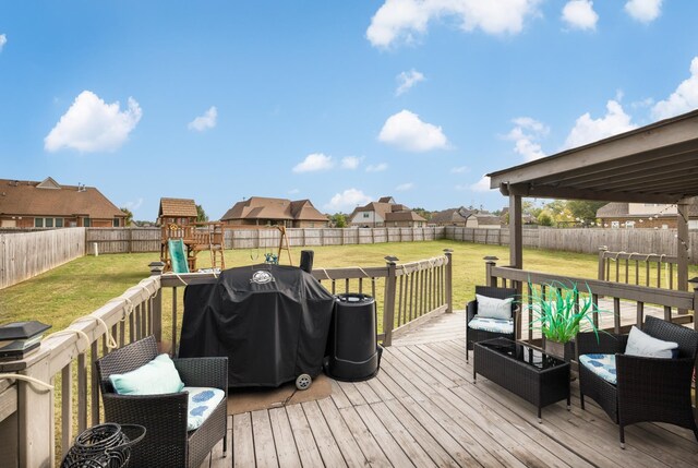
[[(476, 288), (467, 310), (466, 359), (472, 349), (473, 381), (481, 374), (533, 404), (542, 422), (542, 407), (567, 399), (570, 408), (570, 363), (516, 341), (515, 296), (515, 289)], [(579, 333), (576, 346), (581, 409), (585, 397), (597, 401), (618, 424), (622, 448), (625, 427), (637, 422), (687, 428), (698, 441), (691, 407), (698, 332), (647, 316), (642, 331)]]

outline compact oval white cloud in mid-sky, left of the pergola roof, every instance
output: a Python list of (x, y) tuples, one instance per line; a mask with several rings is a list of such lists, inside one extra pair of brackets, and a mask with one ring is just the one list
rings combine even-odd
[(422, 122), (417, 113), (401, 110), (383, 124), (378, 140), (409, 152), (429, 152), (448, 147), (441, 127)]

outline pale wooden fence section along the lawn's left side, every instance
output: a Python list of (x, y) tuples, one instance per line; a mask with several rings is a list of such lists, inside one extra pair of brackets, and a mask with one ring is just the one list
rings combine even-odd
[(85, 254), (85, 228), (0, 233), (0, 289)]

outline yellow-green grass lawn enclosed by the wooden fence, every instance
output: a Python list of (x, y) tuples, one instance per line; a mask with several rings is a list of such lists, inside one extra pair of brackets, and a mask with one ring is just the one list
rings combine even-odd
[[(485, 255), (508, 263), (508, 248), (456, 241), (381, 243), (314, 248), (315, 267), (372, 266), (385, 264), (384, 256), (395, 255), (399, 262), (411, 262), (442, 254), (453, 249), (454, 308), (464, 309), (473, 297), (474, 285), (484, 284)], [(293, 249), (294, 262), (301, 249)], [(226, 266), (260, 263), (263, 252), (226, 251)], [(281, 261), (286, 259), (281, 256)], [(39, 320), (51, 324), (51, 332), (67, 327), (74, 319), (89, 314), (109, 299), (120, 296), (149, 274), (148, 263), (156, 253), (84, 256), (36, 278), (0, 291), (0, 323)], [(207, 252), (198, 255), (198, 266), (210, 264)], [(595, 278), (597, 256), (567, 252), (526, 250), (524, 267), (561, 275)], [(695, 272), (693, 272), (695, 273)], [(691, 273), (691, 276), (693, 276)], [(168, 309), (165, 309), (166, 311)]]

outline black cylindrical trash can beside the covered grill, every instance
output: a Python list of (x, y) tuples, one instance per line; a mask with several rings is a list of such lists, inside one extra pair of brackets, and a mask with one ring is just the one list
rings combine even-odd
[(347, 382), (373, 377), (381, 367), (376, 339), (375, 300), (371, 296), (338, 295), (327, 341), (325, 372)]

